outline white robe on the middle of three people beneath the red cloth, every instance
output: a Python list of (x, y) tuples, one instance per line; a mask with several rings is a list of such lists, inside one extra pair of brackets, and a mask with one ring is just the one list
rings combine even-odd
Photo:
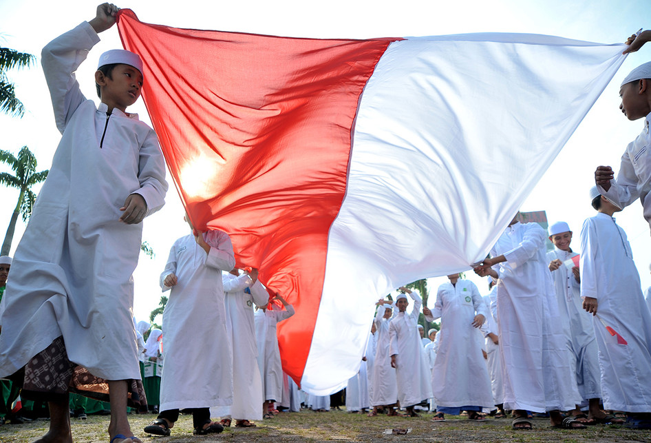
[(222, 283), (226, 329), (233, 349), (233, 406), (225, 406), (217, 413), (235, 420), (262, 420), (262, 378), (257, 369), (253, 305), (265, 306), (269, 293), (259, 281), (252, 285), (248, 274), (224, 274)]

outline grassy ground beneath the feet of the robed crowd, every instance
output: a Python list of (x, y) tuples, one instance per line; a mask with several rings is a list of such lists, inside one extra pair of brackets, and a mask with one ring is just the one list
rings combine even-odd
[[(651, 431), (632, 431), (619, 426), (590, 426), (580, 431), (551, 429), (548, 420), (535, 419), (533, 431), (513, 431), (511, 420), (489, 418), (488, 422), (469, 422), (466, 418), (446, 416), (444, 423), (430, 422), (431, 414), (420, 418), (395, 418), (330, 411), (281, 413), (272, 420), (257, 422), (257, 428), (226, 428), (219, 435), (192, 435), (192, 418), (182, 415), (170, 437), (155, 437), (142, 432), (154, 415), (129, 415), (131, 427), (142, 442), (650, 442)], [(106, 432), (109, 418), (89, 416), (72, 419), (75, 442), (109, 442)], [(0, 442), (31, 442), (47, 431), (49, 422), (38, 420), (0, 427)], [(392, 429), (411, 429), (407, 435), (387, 435)]]

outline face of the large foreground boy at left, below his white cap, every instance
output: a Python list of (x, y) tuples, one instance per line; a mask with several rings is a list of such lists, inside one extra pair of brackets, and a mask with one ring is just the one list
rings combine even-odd
[(102, 102), (109, 107), (117, 107), (122, 112), (140, 97), (142, 74), (133, 66), (116, 65), (110, 77), (102, 75), (98, 79), (96, 76), (96, 81), (102, 90)]

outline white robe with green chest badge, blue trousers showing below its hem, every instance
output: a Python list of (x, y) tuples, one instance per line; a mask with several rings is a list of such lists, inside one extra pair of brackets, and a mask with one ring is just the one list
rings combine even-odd
[(476, 314), (488, 317), (484, 300), (470, 280), (445, 282), (438, 287), (436, 303), (428, 321), (441, 319), (440, 339), (432, 380), (438, 406), (494, 405), (491, 381), (482, 354), (482, 334), (473, 327)]

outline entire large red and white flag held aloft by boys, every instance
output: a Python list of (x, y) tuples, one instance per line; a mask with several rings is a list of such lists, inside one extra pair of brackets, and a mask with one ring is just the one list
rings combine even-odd
[(296, 39), (118, 30), (192, 223), (222, 229), (296, 314), (284, 370), (345, 386), (374, 302), (482, 260), (621, 65), (532, 34)]

